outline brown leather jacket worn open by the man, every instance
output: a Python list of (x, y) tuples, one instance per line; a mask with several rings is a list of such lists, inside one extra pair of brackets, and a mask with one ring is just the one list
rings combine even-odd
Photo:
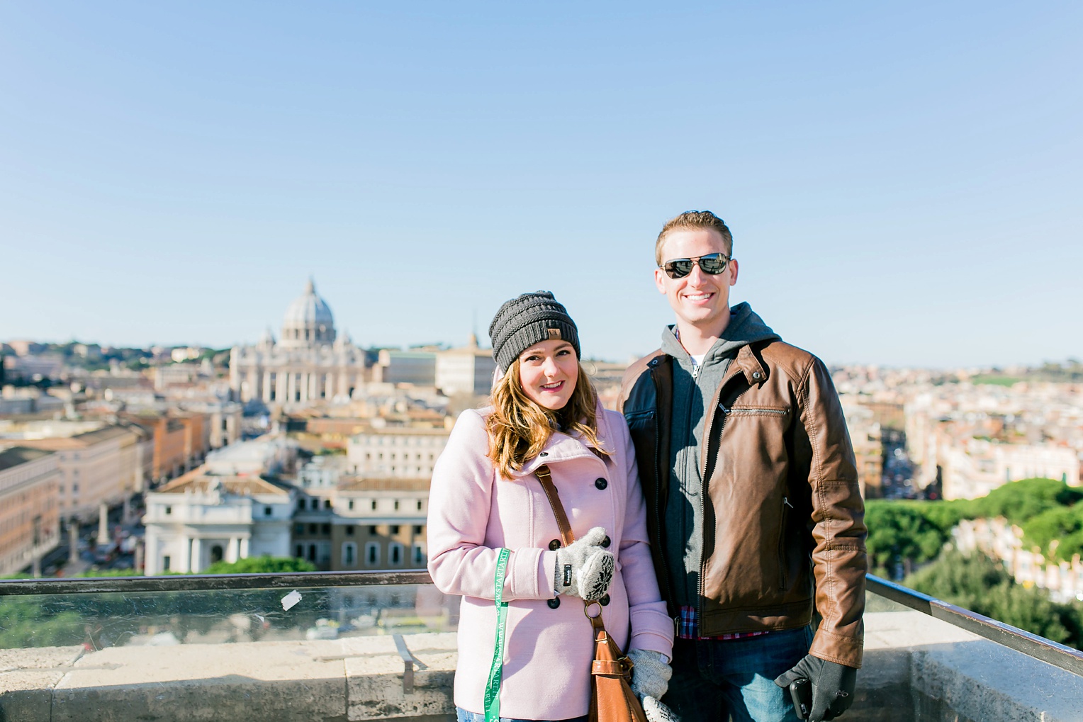
[[(656, 351), (624, 376), (619, 410), (636, 445), (663, 595), (674, 359)], [(743, 346), (704, 421), (700, 633), (822, 621), (810, 653), (861, 666), (864, 503), (838, 395), (819, 358), (781, 341)], [(814, 576), (814, 581), (813, 581)], [(676, 609), (670, 609), (676, 614)]]

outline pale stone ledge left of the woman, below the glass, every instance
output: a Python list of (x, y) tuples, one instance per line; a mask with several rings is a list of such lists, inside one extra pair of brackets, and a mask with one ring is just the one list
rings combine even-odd
[(428, 667), (409, 695), (391, 636), (8, 651), (0, 720), (452, 720), (455, 634), (406, 639)]

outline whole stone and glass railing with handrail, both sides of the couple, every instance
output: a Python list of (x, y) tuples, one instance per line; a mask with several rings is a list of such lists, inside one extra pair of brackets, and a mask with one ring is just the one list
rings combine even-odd
[[(40, 606), (45, 626), (68, 609), (86, 634), (44, 646), (26, 628), (24, 646), (0, 649), (0, 720), (451, 721), (457, 600), (428, 582), (423, 572), (0, 582), (0, 609)], [(37, 641), (56, 639), (42, 629)], [(865, 629), (843, 719), (1083, 720), (1078, 651), (875, 577)]]

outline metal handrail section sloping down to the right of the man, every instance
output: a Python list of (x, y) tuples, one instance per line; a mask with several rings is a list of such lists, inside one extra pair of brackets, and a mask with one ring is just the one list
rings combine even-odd
[(1072, 674), (1083, 677), (1083, 652), (1079, 649), (1058, 644), (1038, 634), (1031, 634), (1018, 627), (949, 604), (928, 594), (915, 592), (913, 589), (871, 574), (867, 577), (867, 590), (911, 609), (927, 614), (935, 619), (941, 619), (960, 629), (965, 629), (991, 642), (1021, 652), (1028, 657), (1041, 659)]

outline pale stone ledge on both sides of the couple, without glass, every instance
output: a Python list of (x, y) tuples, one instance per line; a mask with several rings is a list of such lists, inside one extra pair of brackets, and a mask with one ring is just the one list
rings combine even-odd
[[(1083, 720), (1083, 678), (919, 612), (865, 615), (849, 719)], [(406, 636), (428, 667), (403, 691), (391, 636), (0, 651), (3, 722), (454, 720), (454, 633)]]

